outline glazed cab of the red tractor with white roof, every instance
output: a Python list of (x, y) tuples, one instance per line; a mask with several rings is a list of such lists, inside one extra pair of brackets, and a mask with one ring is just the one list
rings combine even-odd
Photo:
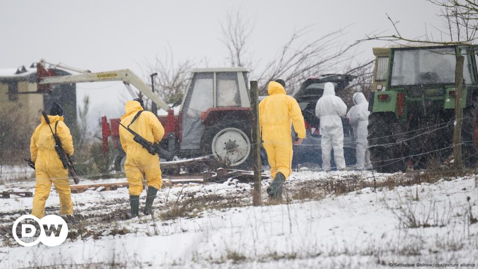
[[(250, 107), (246, 68), (204, 68), (193, 76), (181, 106), (181, 151), (203, 151), (206, 127), (225, 117), (238, 123), (233, 111)], [(232, 113), (231, 113), (232, 112)], [(207, 133), (207, 132), (206, 132)]]

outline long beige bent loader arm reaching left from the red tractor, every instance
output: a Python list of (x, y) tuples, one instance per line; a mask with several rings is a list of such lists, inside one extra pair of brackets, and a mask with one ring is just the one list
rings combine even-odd
[(124, 83), (135, 86), (139, 92), (147, 96), (165, 111), (169, 111), (168, 105), (153, 93), (150, 86), (146, 85), (135, 73), (129, 69), (114, 70), (98, 73), (82, 73), (67, 76), (47, 76), (41, 77), (38, 84), (61, 84), (78, 82), (97, 82), (97, 81), (123, 81)]

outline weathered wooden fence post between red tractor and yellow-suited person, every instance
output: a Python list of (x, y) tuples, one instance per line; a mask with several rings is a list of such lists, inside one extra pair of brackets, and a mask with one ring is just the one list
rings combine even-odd
[(254, 189), (252, 190), (252, 204), (254, 206), (261, 205), (261, 170), (262, 164), (260, 161), (260, 126), (259, 126), (259, 88), (257, 87), (257, 81), (251, 81), (251, 134), (252, 145), (251, 154), (253, 157), (252, 167), (254, 169)]

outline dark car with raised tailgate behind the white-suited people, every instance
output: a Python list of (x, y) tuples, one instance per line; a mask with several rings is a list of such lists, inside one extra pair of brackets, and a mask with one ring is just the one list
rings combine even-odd
[[(332, 82), (335, 86), (335, 93), (338, 94), (344, 89), (355, 76), (326, 74), (318, 77), (309, 78), (301, 87), (297, 89), (292, 97), (297, 100), (301, 107), (302, 114), (306, 124), (306, 138), (301, 145), (294, 145), (294, 155), (292, 158), (292, 167), (300, 163), (317, 163), (322, 166), (322, 150), (320, 147), (320, 121), (315, 116), (315, 105), (317, 100), (322, 97), (325, 82)], [(350, 107), (347, 107), (347, 111)], [(355, 164), (355, 144), (353, 142), (353, 131), (346, 118), (342, 118), (344, 128), (344, 158), (345, 164)], [(295, 133), (292, 128), (292, 137)], [(332, 151), (333, 156), (333, 151)], [(335, 167), (334, 158), (332, 157), (332, 165)]]

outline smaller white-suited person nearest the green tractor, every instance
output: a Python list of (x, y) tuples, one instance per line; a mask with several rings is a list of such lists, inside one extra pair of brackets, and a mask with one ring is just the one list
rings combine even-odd
[(347, 113), (347, 118), (353, 129), (355, 139), (355, 156), (357, 159), (357, 169), (372, 169), (370, 162), (370, 153), (368, 151), (367, 126), (369, 125), (369, 102), (363, 93), (355, 93), (352, 97), (355, 104)]

